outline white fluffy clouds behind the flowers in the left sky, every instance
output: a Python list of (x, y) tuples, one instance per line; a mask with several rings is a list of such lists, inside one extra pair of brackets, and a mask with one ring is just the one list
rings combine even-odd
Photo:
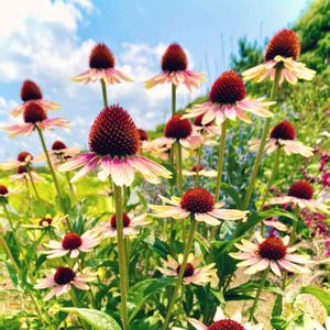
[[(43, 89), (45, 99), (61, 102), (57, 112), (72, 121), (72, 130), (47, 133), (47, 142), (63, 139), (68, 144), (87, 144), (90, 122), (102, 107), (99, 84), (81, 86), (69, 77), (87, 69), (88, 55), (95, 44), (81, 40), (78, 26), (88, 24), (88, 14), (96, 10), (90, 0), (16, 0), (8, 1), (0, 12), (0, 87), (2, 90), (31, 78)], [(14, 20), (12, 18), (15, 18)], [(120, 102), (132, 114), (139, 127), (153, 128), (168, 117), (170, 88), (143, 88), (147, 78), (157, 74), (160, 57), (165, 45), (123, 43), (116, 54), (118, 67), (134, 77), (133, 84), (108, 88), (109, 101)], [(190, 59), (191, 63), (191, 59)], [(178, 106), (190, 101), (195, 95), (178, 90)], [(1, 125), (12, 122), (7, 116), (15, 101), (0, 95)], [(1, 133), (1, 138), (6, 136)], [(36, 136), (6, 140), (0, 146), (0, 157), (15, 156), (29, 147), (40, 152)]]

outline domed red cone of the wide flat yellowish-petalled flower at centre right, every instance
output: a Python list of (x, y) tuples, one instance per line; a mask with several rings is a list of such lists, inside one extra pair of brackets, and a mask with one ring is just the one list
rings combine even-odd
[(215, 207), (215, 198), (204, 188), (191, 188), (183, 196), (180, 207), (191, 213), (210, 212)]

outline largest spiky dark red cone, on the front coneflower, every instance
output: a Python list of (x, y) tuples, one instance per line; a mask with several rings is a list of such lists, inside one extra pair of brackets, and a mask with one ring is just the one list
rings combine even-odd
[(101, 156), (131, 156), (139, 151), (139, 138), (128, 111), (119, 106), (106, 107), (90, 128), (89, 148)]

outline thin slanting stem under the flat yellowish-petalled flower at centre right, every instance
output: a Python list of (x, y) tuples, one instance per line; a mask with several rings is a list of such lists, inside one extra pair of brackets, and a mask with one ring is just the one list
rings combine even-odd
[(174, 307), (175, 300), (177, 298), (179, 287), (183, 283), (185, 270), (186, 270), (186, 266), (187, 266), (188, 255), (189, 255), (190, 250), (193, 248), (195, 229), (196, 229), (196, 220), (194, 219), (194, 216), (191, 216), (190, 220), (191, 220), (190, 221), (190, 230), (189, 230), (188, 241), (187, 241), (187, 244), (186, 244), (186, 248), (185, 248), (184, 260), (183, 260), (183, 263), (180, 264), (180, 271), (179, 271), (179, 274), (178, 274), (177, 279), (176, 279), (176, 284), (175, 284), (175, 288), (174, 288), (173, 294), (172, 294), (172, 298), (170, 298), (169, 304), (168, 304), (168, 308), (167, 308), (167, 312), (166, 312), (166, 317), (165, 317), (165, 321), (164, 321), (164, 324), (162, 327), (162, 330), (167, 329), (169, 318), (170, 318), (170, 315), (172, 315), (172, 311), (173, 311), (173, 307)]

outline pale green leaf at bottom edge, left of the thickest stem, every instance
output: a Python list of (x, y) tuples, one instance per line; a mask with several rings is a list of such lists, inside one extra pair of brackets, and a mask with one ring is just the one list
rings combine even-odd
[(79, 317), (96, 330), (121, 330), (117, 321), (108, 314), (101, 310), (88, 309), (88, 308), (58, 308), (62, 311), (66, 311)]

